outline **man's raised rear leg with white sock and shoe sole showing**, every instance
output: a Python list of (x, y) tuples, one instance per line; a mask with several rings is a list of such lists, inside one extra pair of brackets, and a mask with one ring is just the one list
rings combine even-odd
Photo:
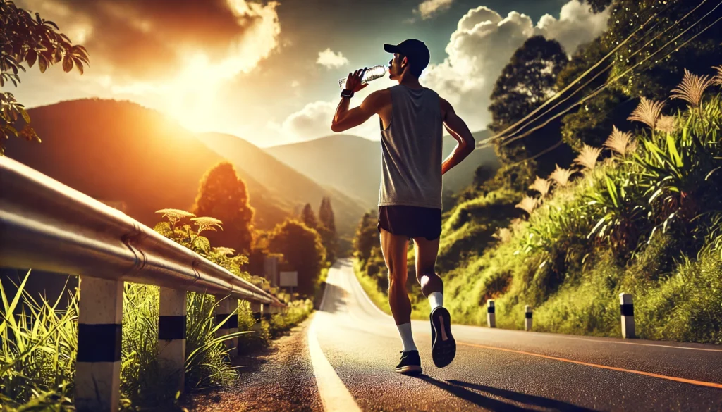
[(431, 313), (431, 356), (437, 367), (445, 367), (456, 356), (456, 341), (451, 335), (451, 315), (443, 307), (444, 284), (434, 271), (439, 251), (439, 239), (427, 240), (414, 237), (416, 252), (416, 277), (421, 284), (421, 292), (429, 298)]

